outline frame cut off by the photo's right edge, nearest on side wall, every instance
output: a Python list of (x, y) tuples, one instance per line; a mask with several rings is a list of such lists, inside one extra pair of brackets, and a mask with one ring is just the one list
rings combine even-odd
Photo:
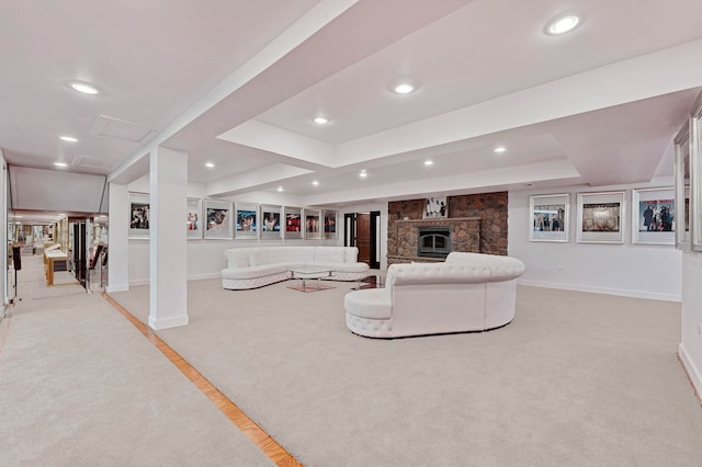
[(690, 118), (690, 239), (692, 250), (702, 251), (702, 93)]

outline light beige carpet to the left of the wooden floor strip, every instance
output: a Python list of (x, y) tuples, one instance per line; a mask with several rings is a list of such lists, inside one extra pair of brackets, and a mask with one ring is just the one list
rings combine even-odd
[(0, 321), (0, 465), (263, 466), (251, 442), (114, 307), (23, 259)]

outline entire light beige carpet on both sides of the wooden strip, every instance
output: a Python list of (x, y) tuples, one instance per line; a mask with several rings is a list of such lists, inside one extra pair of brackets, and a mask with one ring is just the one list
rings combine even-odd
[[(1, 465), (270, 464), (103, 298), (37, 277), (0, 322)], [(679, 304), (519, 287), (502, 329), (371, 340), (351, 284), (294, 283), (191, 282), (190, 324), (158, 334), (306, 466), (702, 458)], [(148, 287), (112, 296), (147, 320)]]

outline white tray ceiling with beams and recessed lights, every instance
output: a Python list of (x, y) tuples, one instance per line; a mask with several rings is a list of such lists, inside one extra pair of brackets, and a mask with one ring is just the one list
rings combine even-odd
[[(582, 24), (544, 34), (567, 11)], [(126, 183), (160, 145), (208, 196), (283, 186), (306, 205), (649, 182), (702, 87), (699, 0), (1, 2), (0, 44), (11, 172)], [(14, 207), (61, 206), (64, 190), (13, 190)]]

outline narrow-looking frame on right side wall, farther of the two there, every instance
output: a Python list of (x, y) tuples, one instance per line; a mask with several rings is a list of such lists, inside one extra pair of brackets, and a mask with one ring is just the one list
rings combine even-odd
[(680, 128), (673, 139), (675, 147), (675, 198), (676, 198), (676, 248), (690, 248), (690, 121)]

